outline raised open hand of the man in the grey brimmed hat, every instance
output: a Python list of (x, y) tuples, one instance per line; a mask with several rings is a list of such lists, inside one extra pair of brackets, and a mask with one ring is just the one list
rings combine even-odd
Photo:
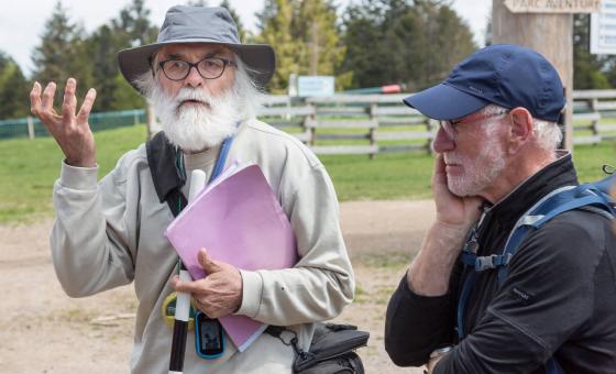
[(36, 81), (30, 92), (30, 108), (32, 114), (43, 122), (58, 143), (67, 164), (94, 167), (96, 166), (96, 145), (88, 124), (88, 117), (96, 99), (96, 90), (94, 88), (88, 90), (79, 112), (75, 114), (77, 107), (76, 89), (77, 81), (74, 78), (68, 78), (64, 90), (62, 112), (58, 114), (54, 109), (56, 84), (50, 82), (41, 95), (42, 87)]

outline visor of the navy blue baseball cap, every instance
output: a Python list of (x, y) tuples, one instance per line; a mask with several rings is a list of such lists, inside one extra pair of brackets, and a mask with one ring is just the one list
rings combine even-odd
[(403, 101), (435, 120), (455, 120), (474, 113), (490, 103), (447, 84), (430, 87)]

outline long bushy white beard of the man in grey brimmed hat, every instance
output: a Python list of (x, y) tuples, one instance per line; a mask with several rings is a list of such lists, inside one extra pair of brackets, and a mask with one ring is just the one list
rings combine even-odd
[[(169, 97), (155, 85), (152, 90), (154, 112), (169, 142), (185, 152), (200, 152), (217, 146), (238, 131), (242, 102), (233, 90), (212, 97), (201, 88), (182, 88), (176, 97)], [(186, 100), (201, 103), (182, 105)]]

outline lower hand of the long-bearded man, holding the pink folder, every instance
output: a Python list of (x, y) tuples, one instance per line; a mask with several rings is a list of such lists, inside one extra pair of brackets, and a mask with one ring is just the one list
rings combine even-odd
[(199, 251), (198, 258), (208, 275), (194, 282), (182, 282), (175, 276), (172, 279), (175, 290), (191, 294), (197, 307), (210, 318), (224, 317), (238, 310), (242, 304), (240, 271), (227, 263), (211, 260), (205, 249)]

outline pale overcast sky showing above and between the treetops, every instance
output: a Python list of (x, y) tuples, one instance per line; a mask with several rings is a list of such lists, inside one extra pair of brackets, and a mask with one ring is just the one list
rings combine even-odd
[[(337, 0), (346, 6), (353, 0)], [(166, 10), (183, 0), (145, 0), (152, 11), (152, 21), (161, 25)], [(219, 0), (210, 0), (218, 4)], [(249, 30), (255, 29), (255, 12), (263, 8), (263, 0), (230, 0)], [(25, 75), (32, 70), (32, 51), (40, 43), (45, 22), (52, 14), (56, 0), (6, 0), (0, 12), (0, 51), (8, 53), (21, 66)], [(62, 0), (73, 22), (80, 22), (87, 32), (116, 18), (130, 0)], [(468, 22), (475, 34), (477, 45), (483, 45), (485, 25), (492, 2), (490, 0), (454, 0), (453, 8)], [(111, 52), (111, 51), (110, 51)], [(114, 53), (116, 51), (111, 52)]]

